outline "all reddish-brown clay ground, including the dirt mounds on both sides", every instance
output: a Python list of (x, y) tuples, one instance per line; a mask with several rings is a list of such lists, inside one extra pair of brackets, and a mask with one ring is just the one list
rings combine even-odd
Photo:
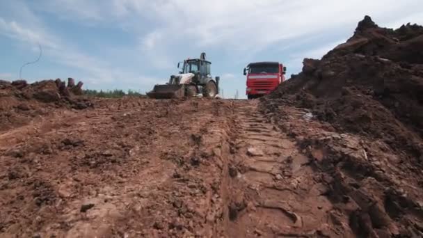
[(366, 18), (262, 100), (0, 81), (0, 237), (422, 237), (419, 32)]

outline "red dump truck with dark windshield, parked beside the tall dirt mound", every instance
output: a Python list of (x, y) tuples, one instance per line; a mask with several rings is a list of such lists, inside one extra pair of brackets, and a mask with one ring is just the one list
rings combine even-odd
[(247, 76), (246, 95), (248, 99), (262, 97), (275, 90), (285, 81), (287, 68), (278, 62), (250, 63), (244, 68)]

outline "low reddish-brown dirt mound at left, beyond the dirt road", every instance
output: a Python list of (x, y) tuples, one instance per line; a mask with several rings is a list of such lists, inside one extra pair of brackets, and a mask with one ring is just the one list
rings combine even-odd
[(49, 113), (49, 108), (86, 109), (93, 106), (82, 95), (83, 83), (68, 83), (61, 79), (28, 84), (25, 80), (0, 80), (0, 131), (26, 125), (37, 116)]

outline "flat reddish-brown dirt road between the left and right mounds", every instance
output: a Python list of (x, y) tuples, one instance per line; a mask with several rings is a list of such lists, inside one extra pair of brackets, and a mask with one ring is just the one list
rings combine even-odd
[[(359, 145), (307, 111), (287, 107), (290, 118), (275, 121), (259, 105), (99, 100), (3, 132), (0, 236), (360, 235), (367, 223), (351, 216), (358, 208), (348, 193), (335, 199), (334, 175), (319, 166), (330, 154), (303, 135)], [(399, 232), (390, 222), (370, 225), (365, 235)]]

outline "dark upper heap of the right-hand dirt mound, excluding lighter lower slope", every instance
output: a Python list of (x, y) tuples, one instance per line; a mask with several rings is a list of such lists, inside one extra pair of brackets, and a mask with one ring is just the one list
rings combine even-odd
[(382, 138), (413, 157), (423, 151), (423, 27), (378, 27), (368, 16), (354, 35), (303, 71), (271, 98), (312, 109), (337, 129)]

